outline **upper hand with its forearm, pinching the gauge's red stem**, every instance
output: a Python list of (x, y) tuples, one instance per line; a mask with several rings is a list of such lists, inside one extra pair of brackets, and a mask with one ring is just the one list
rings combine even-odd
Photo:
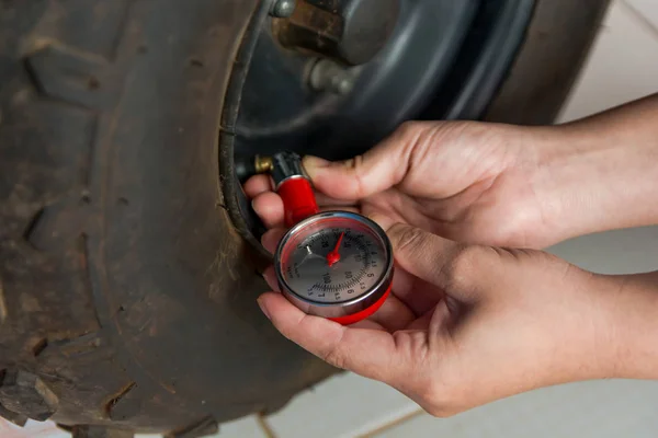
[[(541, 249), (658, 223), (658, 95), (577, 123), (520, 127), (407, 123), (363, 157), (307, 158), (325, 207), (351, 206), (462, 242)], [(246, 185), (271, 227), (269, 178)]]

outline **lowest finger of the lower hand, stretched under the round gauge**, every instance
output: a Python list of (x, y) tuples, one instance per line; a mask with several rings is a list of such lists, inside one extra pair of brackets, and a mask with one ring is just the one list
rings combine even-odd
[(258, 301), (285, 337), (338, 368), (385, 382), (401, 369), (394, 338), (385, 331), (307, 315), (280, 293), (263, 293)]

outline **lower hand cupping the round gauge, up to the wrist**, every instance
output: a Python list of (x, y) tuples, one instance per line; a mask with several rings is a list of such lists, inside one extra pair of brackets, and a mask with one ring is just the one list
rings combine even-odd
[[(370, 320), (344, 327), (264, 293), (259, 303), (284, 336), (438, 416), (613, 376), (616, 306), (601, 297), (614, 296), (619, 283), (540, 251), (464, 245), (375, 219), (396, 254), (392, 297)], [(276, 239), (270, 233), (263, 243), (272, 250)], [(266, 278), (275, 287), (272, 272)]]

